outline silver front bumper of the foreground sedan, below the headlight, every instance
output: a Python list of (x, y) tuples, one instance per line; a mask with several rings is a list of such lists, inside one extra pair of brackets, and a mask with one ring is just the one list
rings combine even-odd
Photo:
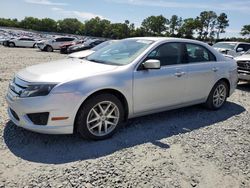
[[(9, 89), (6, 96), (10, 119), (19, 127), (45, 134), (72, 134), (81, 96), (73, 93), (19, 98)], [(13, 115), (13, 111), (14, 113)], [(46, 125), (34, 124), (27, 114), (49, 112)], [(18, 116), (18, 118), (16, 118)], [(53, 117), (68, 117), (53, 121)]]

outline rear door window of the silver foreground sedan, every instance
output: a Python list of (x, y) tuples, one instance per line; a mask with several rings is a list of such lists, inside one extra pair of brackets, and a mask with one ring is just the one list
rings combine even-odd
[(186, 44), (189, 63), (216, 61), (215, 56), (206, 48), (196, 44)]

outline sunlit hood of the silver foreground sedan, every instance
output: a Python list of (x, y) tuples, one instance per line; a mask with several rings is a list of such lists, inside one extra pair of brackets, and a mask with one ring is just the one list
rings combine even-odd
[(60, 83), (112, 71), (117, 67), (71, 58), (33, 65), (19, 71), (16, 76), (27, 82)]

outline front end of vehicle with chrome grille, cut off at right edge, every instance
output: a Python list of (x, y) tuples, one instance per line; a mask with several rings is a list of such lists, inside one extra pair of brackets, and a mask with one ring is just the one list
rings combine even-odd
[(239, 80), (250, 82), (250, 50), (234, 59), (238, 65)]

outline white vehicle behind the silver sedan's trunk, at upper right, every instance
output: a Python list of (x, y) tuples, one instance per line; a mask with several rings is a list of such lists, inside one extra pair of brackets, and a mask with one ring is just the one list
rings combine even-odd
[(232, 57), (242, 55), (250, 49), (250, 43), (245, 42), (218, 42), (213, 47), (221, 52)]

